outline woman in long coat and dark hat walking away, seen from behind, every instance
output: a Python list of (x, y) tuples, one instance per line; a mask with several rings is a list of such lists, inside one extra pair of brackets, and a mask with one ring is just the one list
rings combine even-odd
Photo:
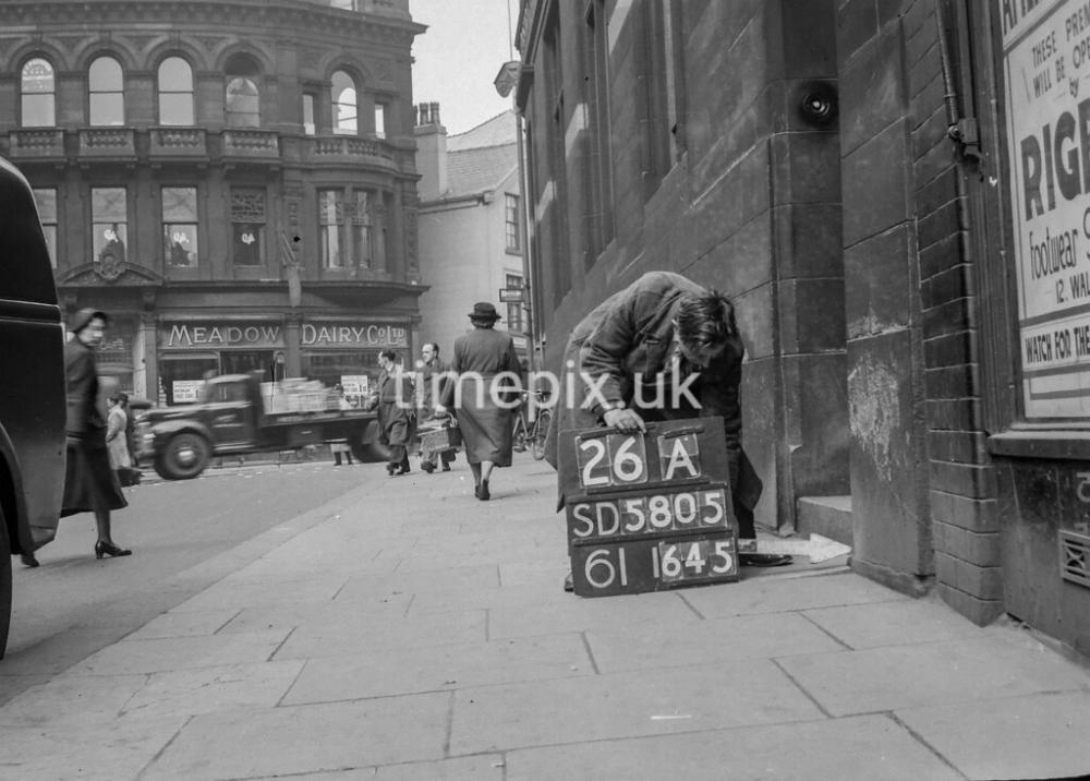
[(495, 329), (499, 314), (493, 304), (474, 304), (469, 317), (473, 331), (455, 341), (451, 369), (458, 379), (444, 389), (436, 412), (453, 409), (465, 460), (473, 470), (473, 493), (487, 502), (493, 468), (511, 466), (511, 424), (521, 390), (521, 367), (511, 335)]

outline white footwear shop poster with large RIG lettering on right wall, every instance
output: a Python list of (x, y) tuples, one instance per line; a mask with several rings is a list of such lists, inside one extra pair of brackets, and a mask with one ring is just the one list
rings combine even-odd
[(1090, 3), (997, 0), (1026, 417), (1090, 417)]

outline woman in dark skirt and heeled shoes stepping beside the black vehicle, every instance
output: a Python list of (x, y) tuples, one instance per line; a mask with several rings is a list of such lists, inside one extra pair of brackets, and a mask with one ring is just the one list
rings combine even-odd
[[(109, 325), (105, 312), (82, 309), (72, 316), (72, 338), (64, 345), (64, 374), (68, 383), (65, 421), (68, 464), (61, 517), (94, 513), (98, 540), (95, 557), (128, 556), (131, 550), (113, 543), (110, 512), (128, 507), (118, 477), (110, 468), (106, 442), (106, 419), (98, 408), (98, 371), (95, 350)], [(38, 566), (33, 555), (23, 555), (27, 566)]]

